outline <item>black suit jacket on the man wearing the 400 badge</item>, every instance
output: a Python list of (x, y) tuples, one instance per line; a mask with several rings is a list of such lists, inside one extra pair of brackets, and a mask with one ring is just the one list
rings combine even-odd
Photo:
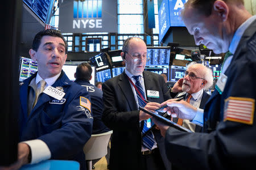
[[(146, 90), (159, 91), (159, 98), (147, 97), (147, 100), (162, 103), (171, 98), (162, 76), (143, 71)], [(110, 169), (139, 169), (141, 164), (141, 128), (139, 111), (128, 76), (125, 71), (102, 84), (104, 113), (102, 120), (113, 129), (110, 154)], [(143, 127), (143, 126), (142, 126)], [(159, 130), (152, 130), (166, 169), (171, 168), (165, 149), (164, 138)]]

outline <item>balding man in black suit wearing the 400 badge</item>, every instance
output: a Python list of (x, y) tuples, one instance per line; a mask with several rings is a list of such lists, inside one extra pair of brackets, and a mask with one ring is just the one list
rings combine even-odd
[(158, 109), (170, 92), (162, 76), (144, 71), (147, 47), (142, 39), (126, 39), (121, 56), (125, 71), (102, 85), (102, 120), (113, 129), (110, 169), (170, 169), (160, 131), (152, 129), (143, 137), (152, 126), (151, 116), (138, 110)]

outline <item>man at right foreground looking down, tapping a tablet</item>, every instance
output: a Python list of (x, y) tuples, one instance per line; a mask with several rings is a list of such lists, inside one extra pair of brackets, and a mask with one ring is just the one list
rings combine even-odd
[(154, 120), (168, 158), (184, 169), (255, 169), (256, 16), (242, 0), (188, 0), (182, 15), (196, 45), (227, 53), (204, 113), (182, 101), (165, 102), (169, 114), (203, 122), (204, 133), (183, 133)]

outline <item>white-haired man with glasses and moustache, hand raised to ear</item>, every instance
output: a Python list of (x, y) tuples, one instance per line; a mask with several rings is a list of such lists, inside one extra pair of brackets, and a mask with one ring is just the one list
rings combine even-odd
[[(184, 78), (179, 79), (171, 88), (171, 96), (183, 98), (188, 104), (203, 111), (204, 105), (210, 97), (204, 90), (208, 90), (212, 84), (212, 70), (200, 63), (191, 62), (187, 66)], [(200, 132), (203, 127), (203, 124), (196, 121), (191, 122), (181, 118), (172, 118), (172, 121), (194, 132)]]

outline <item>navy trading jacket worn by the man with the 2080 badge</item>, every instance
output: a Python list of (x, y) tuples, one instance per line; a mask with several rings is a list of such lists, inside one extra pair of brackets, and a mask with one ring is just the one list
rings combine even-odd
[(20, 86), (20, 141), (40, 139), (49, 147), (51, 159), (77, 160), (81, 169), (86, 169), (82, 147), (92, 134), (93, 118), (89, 110), (80, 105), (80, 96), (90, 100), (88, 91), (61, 71), (52, 87), (62, 87), (63, 99), (43, 93), (27, 116), (28, 84), (35, 76), (24, 80)]

